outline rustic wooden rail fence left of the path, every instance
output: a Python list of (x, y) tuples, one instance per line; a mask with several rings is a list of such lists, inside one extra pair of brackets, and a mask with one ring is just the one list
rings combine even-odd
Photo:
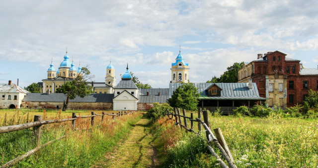
[(18, 131), (18, 130), (22, 130), (22, 129), (28, 129), (33, 127), (33, 131), (34, 131), (34, 136), (35, 136), (35, 144), (36, 144), (36, 148), (28, 151), (27, 153), (5, 163), (4, 165), (2, 165), (0, 168), (8, 168), (11, 167), (15, 164), (17, 164), (18, 162), (22, 161), (23, 159), (29, 157), (30, 155), (36, 153), (37, 151), (39, 151), (41, 148), (57, 141), (60, 140), (62, 138), (65, 138), (66, 136), (62, 136), (59, 137), (55, 140), (49, 141), (43, 145), (40, 145), (40, 140), (41, 140), (41, 126), (45, 125), (45, 124), (52, 124), (52, 123), (62, 123), (62, 122), (67, 122), (67, 121), (72, 121), (72, 127), (73, 130), (75, 130), (75, 126), (76, 126), (76, 120), (79, 118), (91, 118), (91, 126), (94, 126), (94, 120), (95, 120), (95, 116), (101, 116), (101, 122), (103, 122), (104, 120), (104, 116), (105, 115), (111, 115), (112, 119), (115, 119), (115, 117), (120, 117), (122, 115), (129, 115), (132, 114), (133, 111), (124, 111), (124, 112), (118, 112), (118, 113), (105, 113), (102, 112), (102, 114), (96, 114), (95, 112), (91, 112), (91, 115), (86, 115), (86, 116), (80, 116), (80, 115), (76, 115), (76, 113), (72, 113), (72, 118), (67, 118), (67, 119), (59, 119), (59, 120), (42, 120), (42, 115), (35, 115), (34, 116), (34, 122), (30, 122), (30, 123), (25, 123), (25, 124), (18, 124), (18, 125), (9, 125), (9, 126), (2, 126), (0, 127), (0, 134), (2, 133), (7, 133), (7, 132), (12, 132), (12, 131)]

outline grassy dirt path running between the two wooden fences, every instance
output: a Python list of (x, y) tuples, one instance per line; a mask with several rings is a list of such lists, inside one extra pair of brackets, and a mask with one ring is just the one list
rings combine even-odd
[(154, 148), (155, 137), (150, 131), (150, 120), (142, 118), (135, 125), (126, 141), (118, 144), (111, 153), (104, 156), (94, 168), (155, 168), (158, 166)]

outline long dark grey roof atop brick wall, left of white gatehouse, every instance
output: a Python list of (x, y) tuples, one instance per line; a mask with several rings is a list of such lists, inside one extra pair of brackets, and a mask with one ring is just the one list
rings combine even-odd
[[(69, 102), (112, 102), (113, 96), (114, 94), (95, 93), (83, 98), (76, 96)], [(64, 102), (66, 98), (67, 96), (64, 93), (28, 93), (22, 101)]]

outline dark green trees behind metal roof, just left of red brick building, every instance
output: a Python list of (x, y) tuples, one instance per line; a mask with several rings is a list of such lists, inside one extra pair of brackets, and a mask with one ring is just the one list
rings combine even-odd
[(227, 68), (227, 71), (221, 75), (220, 78), (214, 76), (211, 81), (207, 83), (237, 83), (238, 82), (238, 71), (243, 67), (244, 63), (234, 63), (231, 67)]

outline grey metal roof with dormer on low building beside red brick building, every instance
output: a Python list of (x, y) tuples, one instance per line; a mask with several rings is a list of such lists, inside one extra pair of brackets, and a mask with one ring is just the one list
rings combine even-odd
[[(221, 96), (208, 96), (205, 92), (213, 84), (219, 86), (221, 90)], [(198, 88), (200, 93), (199, 99), (266, 99), (260, 97), (256, 83), (253, 83), (253, 88), (248, 88), (248, 83), (193, 83)], [(173, 83), (169, 84), (169, 95), (171, 96), (173, 91), (177, 89), (181, 84)]]

